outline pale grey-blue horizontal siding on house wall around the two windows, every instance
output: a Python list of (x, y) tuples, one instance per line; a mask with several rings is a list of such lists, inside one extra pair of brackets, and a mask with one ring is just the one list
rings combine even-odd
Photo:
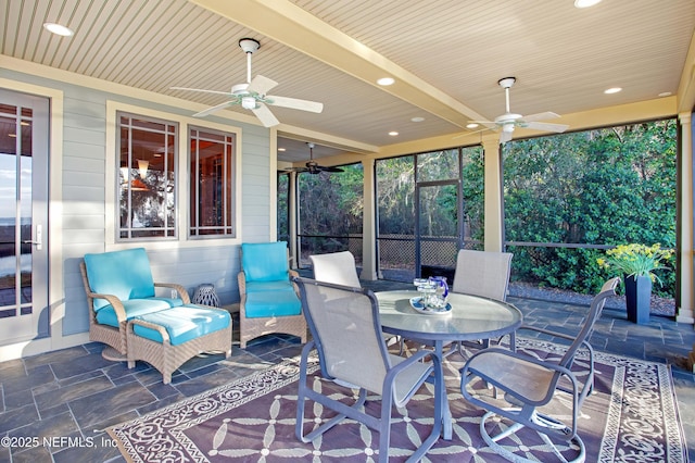
[[(106, 153), (106, 101), (150, 108), (170, 114), (190, 115), (179, 108), (153, 104), (128, 96), (106, 93), (74, 84), (0, 70), (0, 76), (56, 88), (64, 92), (63, 114), (63, 172), (62, 172), (62, 254), (65, 317), (63, 336), (88, 330), (88, 309), (79, 262), (85, 253), (104, 252), (106, 249), (106, 217), (115, 212), (105, 207), (105, 167), (115, 162)], [(220, 122), (228, 123), (228, 120)], [(237, 224), (247, 241), (267, 241), (269, 230), (268, 195), (271, 178), (269, 172), (269, 130), (261, 126), (239, 124), (242, 128), (241, 223)], [(179, 134), (185, 137), (186, 134)], [(243, 174), (243, 175), (241, 175)], [(244, 202), (249, 202), (247, 205)], [(186, 205), (179, 204), (185, 213)], [(212, 283), (223, 304), (239, 300), (237, 274), (240, 270), (239, 246), (220, 246), (217, 240), (205, 246), (197, 240), (195, 247), (179, 246), (186, 240), (187, 230), (179, 230), (179, 240), (157, 241), (154, 246), (139, 243), (148, 249), (152, 273), (156, 281), (184, 285), (192, 296), (200, 284)], [(170, 246), (168, 246), (170, 243)], [(136, 246), (138, 243), (135, 243)], [(49, 237), (50, 246), (50, 237)]]

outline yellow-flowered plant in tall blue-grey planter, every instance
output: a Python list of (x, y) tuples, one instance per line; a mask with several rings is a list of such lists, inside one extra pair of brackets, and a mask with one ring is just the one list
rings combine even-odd
[(659, 243), (631, 243), (609, 249), (605, 258), (597, 259), (598, 266), (623, 277), (629, 321), (637, 324), (649, 321), (652, 284), (661, 285), (661, 279), (654, 271), (668, 268), (665, 264), (671, 255), (673, 250), (662, 249)]

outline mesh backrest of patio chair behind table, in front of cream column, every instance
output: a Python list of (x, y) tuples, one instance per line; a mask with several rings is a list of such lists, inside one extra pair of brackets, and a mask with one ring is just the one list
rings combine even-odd
[(513, 255), (510, 252), (462, 249), (456, 256), (452, 291), (505, 301)]

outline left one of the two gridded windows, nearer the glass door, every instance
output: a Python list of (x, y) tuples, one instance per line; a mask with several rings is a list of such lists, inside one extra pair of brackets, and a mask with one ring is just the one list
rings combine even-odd
[(174, 238), (177, 126), (127, 114), (118, 121), (118, 238)]

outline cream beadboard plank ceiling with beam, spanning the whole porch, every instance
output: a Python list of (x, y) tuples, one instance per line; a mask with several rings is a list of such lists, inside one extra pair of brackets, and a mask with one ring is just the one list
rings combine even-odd
[[(169, 87), (227, 91), (244, 83), (238, 41), (252, 37), (261, 42), (253, 75), (278, 82), (274, 95), (325, 107), (273, 108), (280, 134), (355, 151), (453, 137), (468, 120), (494, 118), (505, 110), (505, 76), (517, 77), (511, 109), (521, 114), (675, 95), (695, 30), (692, 0), (604, 0), (583, 10), (572, 0), (4, 0), (0, 12), (2, 55), (201, 109), (224, 97)], [(45, 22), (75, 35), (49, 34)], [(382, 76), (396, 84), (378, 86)], [(616, 86), (623, 91), (603, 93)], [(303, 142), (289, 145), (280, 159), (307, 158)]]

